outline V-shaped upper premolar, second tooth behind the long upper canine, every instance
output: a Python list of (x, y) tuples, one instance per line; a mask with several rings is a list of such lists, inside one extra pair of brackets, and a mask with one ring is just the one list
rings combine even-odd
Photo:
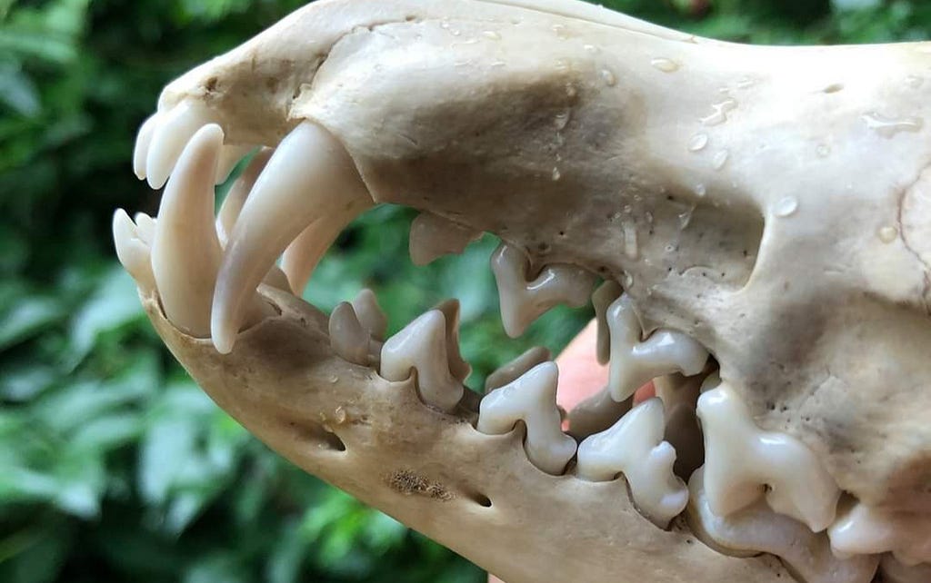
[(595, 277), (580, 267), (546, 266), (527, 281), (529, 262), (520, 250), (502, 243), (492, 254), (492, 272), (501, 300), (501, 321), (507, 336), (518, 338), (530, 323), (560, 303), (573, 308), (586, 305)]

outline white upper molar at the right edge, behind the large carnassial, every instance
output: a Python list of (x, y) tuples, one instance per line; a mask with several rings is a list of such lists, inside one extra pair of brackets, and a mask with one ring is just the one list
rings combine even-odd
[(834, 552), (892, 552), (906, 565), (931, 563), (931, 514), (896, 512), (855, 502), (828, 529)]

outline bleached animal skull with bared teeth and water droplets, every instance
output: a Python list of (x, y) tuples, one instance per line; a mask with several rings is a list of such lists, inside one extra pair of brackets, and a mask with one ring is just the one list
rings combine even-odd
[[(927, 581), (929, 74), (929, 44), (571, 0), (318, 2), (165, 88), (135, 165), (166, 192), (117, 252), (233, 417), (508, 583)], [(418, 262), (506, 242), (511, 335), (605, 281), (611, 379), (569, 434), (545, 350), (464, 389), (455, 302), (385, 339), (371, 294), (299, 298), (381, 203), (424, 211)]]

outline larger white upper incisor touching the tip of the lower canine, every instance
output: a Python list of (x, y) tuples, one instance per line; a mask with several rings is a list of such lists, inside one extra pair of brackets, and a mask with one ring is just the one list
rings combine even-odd
[[(209, 110), (193, 101), (183, 101), (168, 113), (161, 114), (145, 156), (145, 175), (149, 186), (160, 189), (165, 185), (187, 142), (197, 130), (211, 122), (210, 118)], [(210, 177), (210, 184), (213, 184), (213, 177)]]

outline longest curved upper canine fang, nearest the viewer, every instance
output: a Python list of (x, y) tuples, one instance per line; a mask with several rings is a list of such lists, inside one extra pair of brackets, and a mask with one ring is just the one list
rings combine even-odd
[(230, 234), (211, 316), (217, 350), (233, 350), (246, 298), (294, 237), (314, 233), (305, 242), (312, 249), (301, 250), (302, 270), (295, 271), (290, 263), (289, 272), (287, 261), (285, 265), (291, 289), (301, 289), (297, 284), (305, 279), (303, 268), (316, 265), (344, 226), (371, 205), (342, 144), (313, 123), (295, 127), (256, 180)]

